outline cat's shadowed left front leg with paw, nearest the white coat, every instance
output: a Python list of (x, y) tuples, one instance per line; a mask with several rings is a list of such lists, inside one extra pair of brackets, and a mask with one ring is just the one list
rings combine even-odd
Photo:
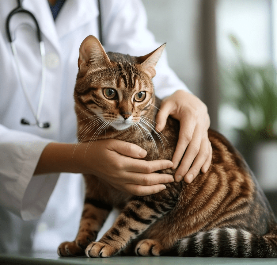
[(76, 239), (59, 245), (59, 256), (85, 255), (85, 248), (96, 240), (97, 234), (107, 219), (112, 206), (86, 198)]

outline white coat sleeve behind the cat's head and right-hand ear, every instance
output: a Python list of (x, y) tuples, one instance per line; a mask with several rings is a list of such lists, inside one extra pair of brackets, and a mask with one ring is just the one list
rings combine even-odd
[[(103, 41), (106, 51), (142, 56), (161, 45), (147, 29), (146, 12), (140, 0), (106, 1), (109, 4), (102, 12)], [(156, 66), (153, 83), (156, 94), (160, 98), (169, 96), (179, 89), (189, 91), (168, 66), (166, 51), (163, 52)]]

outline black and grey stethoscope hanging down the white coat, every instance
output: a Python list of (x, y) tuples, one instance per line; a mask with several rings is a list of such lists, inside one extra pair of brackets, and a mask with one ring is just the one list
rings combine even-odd
[[(21, 82), (22, 89), (24, 91), (25, 98), (26, 98), (26, 100), (28, 102), (28, 105), (29, 105), (30, 109), (32, 110), (32, 114), (34, 115), (35, 120), (36, 120), (36, 123), (31, 123), (27, 119), (22, 118), (20, 122), (23, 125), (37, 125), (39, 128), (49, 128), (50, 127), (50, 123), (49, 122), (40, 122), (40, 112), (41, 112), (42, 103), (43, 103), (43, 99), (44, 99), (44, 90), (45, 90), (45, 82), (46, 82), (46, 79), (45, 79), (45, 48), (44, 48), (44, 42), (41, 39), (40, 27), (39, 27), (39, 24), (38, 24), (35, 16), (30, 11), (25, 10), (25, 9), (22, 8), (22, 0), (17, 0), (17, 4), (18, 4), (18, 6), (15, 9), (13, 9), (9, 13), (9, 15), (7, 17), (7, 20), (6, 20), (6, 32), (7, 32), (8, 40), (9, 40), (9, 42), (11, 44), (11, 48), (12, 48), (12, 51), (13, 51), (13, 56), (14, 56), (15, 64), (16, 64), (16, 67), (17, 67), (17, 72), (18, 72), (18, 75), (19, 75), (19, 79), (20, 79), (20, 82)], [(17, 14), (17, 13), (26, 13), (30, 17), (32, 17), (32, 20), (36, 24), (37, 38), (38, 38), (38, 41), (40, 43), (40, 54), (41, 54), (42, 71), (41, 71), (40, 98), (39, 98), (39, 105), (38, 105), (37, 111), (35, 111), (32, 103), (31, 103), (31, 100), (30, 100), (30, 98), (28, 96), (27, 89), (26, 89), (26, 84), (24, 82), (24, 79), (22, 78), (20, 67), (19, 67), (19, 60), (18, 60), (17, 50), (16, 50), (14, 42), (12, 41), (11, 34), (10, 34), (10, 29), (9, 29), (10, 19), (11, 19), (11, 17), (14, 14)]]

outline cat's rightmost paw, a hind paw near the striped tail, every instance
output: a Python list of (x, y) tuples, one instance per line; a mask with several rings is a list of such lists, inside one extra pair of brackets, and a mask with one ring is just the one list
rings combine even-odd
[(137, 256), (160, 256), (163, 251), (161, 244), (154, 239), (144, 239), (136, 245)]

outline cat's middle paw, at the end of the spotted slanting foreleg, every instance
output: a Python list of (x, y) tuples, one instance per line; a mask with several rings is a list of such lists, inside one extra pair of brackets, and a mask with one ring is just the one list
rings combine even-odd
[(91, 242), (85, 249), (85, 255), (90, 258), (109, 258), (118, 252), (118, 249), (102, 242)]

